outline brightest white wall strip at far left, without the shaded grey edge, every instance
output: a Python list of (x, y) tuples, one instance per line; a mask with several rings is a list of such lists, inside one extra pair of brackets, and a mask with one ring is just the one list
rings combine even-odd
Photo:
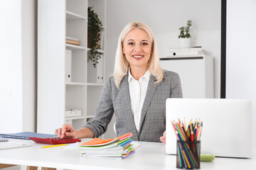
[(0, 130), (14, 132), (22, 129), (21, 1), (1, 2), (0, 8)]

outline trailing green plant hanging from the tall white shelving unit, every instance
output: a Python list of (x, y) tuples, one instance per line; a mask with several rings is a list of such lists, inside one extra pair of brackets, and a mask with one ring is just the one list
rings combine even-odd
[(102, 22), (97, 13), (92, 10), (92, 6), (88, 7), (88, 32), (87, 32), (87, 47), (90, 48), (88, 59), (92, 61), (92, 65), (96, 67), (97, 61), (100, 59), (102, 52), (99, 52), (100, 47), (100, 28)]

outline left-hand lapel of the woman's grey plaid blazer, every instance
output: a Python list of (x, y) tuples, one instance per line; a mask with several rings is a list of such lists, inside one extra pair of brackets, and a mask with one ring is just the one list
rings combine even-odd
[(134, 140), (139, 140), (138, 132), (136, 130), (136, 126), (134, 123), (134, 118), (132, 115), (132, 108), (131, 108), (131, 98), (129, 96), (129, 84), (128, 84), (128, 76), (126, 75), (120, 84), (120, 91), (122, 96), (122, 104), (124, 106), (124, 112), (127, 118), (127, 123), (132, 130), (132, 134), (134, 136)]

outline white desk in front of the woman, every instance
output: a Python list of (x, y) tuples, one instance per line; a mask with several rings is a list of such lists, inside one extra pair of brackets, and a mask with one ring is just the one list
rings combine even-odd
[[(161, 143), (140, 142), (135, 154), (127, 159), (85, 159), (80, 151), (51, 147), (40, 149), (40, 144), (29, 140), (11, 140), (30, 143), (32, 147), (0, 150), (0, 164), (44, 166), (60, 169), (176, 169), (176, 156), (167, 155)], [(201, 162), (201, 169), (256, 169), (255, 159), (215, 158), (213, 162)]]

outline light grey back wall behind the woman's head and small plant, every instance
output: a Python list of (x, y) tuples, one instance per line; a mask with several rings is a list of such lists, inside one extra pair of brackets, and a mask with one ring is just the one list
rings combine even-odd
[(146, 23), (154, 32), (159, 56), (169, 47), (178, 47), (178, 34), (188, 19), (193, 20), (191, 46), (201, 45), (206, 55), (214, 57), (215, 98), (220, 97), (220, 0), (107, 0), (106, 72), (114, 70), (117, 39), (132, 21)]

